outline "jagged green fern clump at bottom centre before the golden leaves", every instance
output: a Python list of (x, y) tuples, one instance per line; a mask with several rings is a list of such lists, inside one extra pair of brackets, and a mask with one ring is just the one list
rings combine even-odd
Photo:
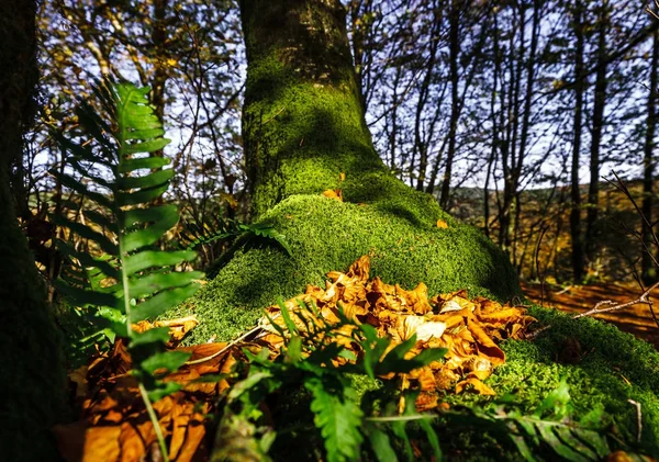
[[(259, 354), (245, 351), (250, 359), (249, 374), (234, 385), (227, 395), (217, 430), (220, 447), (216, 454), (223, 455), (216, 455), (213, 460), (223, 460), (235, 452), (234, 442), (224, 436), (232, 431), (237, 421), (242, 421), (243, 427), (253, 429), (255, 441), (258, 435), (268, 435), (273, 439), (273, 430), (264, 427), (267, 419), (263, 413), (263, 404), (273, 392), (281, 388), (305, 390), (310, 394), (309, 409), (313, 415), (313, 425), (322, 437), (327, 461), (358, 460), (364, 451), (378, 460), (395, 460), (390, 458), (394, 450), (386, 427), (392, 422), (398, 424), (396, 417), (369, 420), (367, 417), (371, 409), (370, 403), (366, 399), (360, 403), (349, 376), (410, 372), (434, 360), (440, 360), (446, 350), (431, 349), (404, 360), (403, 356), (415, 345), (414, 338), (386, 352), (391, 340), (375, 337), (375, 330), (369, 328), (370, 326), (356, 324), (339, 313), (339, 325), (320, 327), (310, 316), (319, 316), (315, 306), (302, 307), (303, 309), (295, 315), (306, 329), (295, 327), (282, 304), (281, 315), (287, 328), (271, 323), (272, 328), (284, 338), (284, 347), (277, 359), (269, 360), (267, 350)], [(346, 325), (353, 327), (349, 340), (358, 346), (358, 354), (334, 341), (338, 336), (337, 329)], [(373, 353), (373, 349), (377, 353)], [(386, 390), (379, 391), (380, 394), (395, 394), (392, 383), (384, 384), (383, 388)], [(425, 417), (418, 415), (405, 417), (407, 420), (423, 418)], [(431, 439), (437, 442), (434, 429), (427, 427), (427, 430), (432, 435)], [(393, 436), (406, 438), (404, 425), (398, 425)], [(362, 446), (365, 439), (370, 442), (370, 452), (369, 448)], [(258, 448), (255, 442), (245, 442), (244, 438), (236, 443), (242, 448)], [(269, 441), (268, 447), (271, 443), (272, 441)], [(435, 453), (438, 453), (438, 444), (436, 449)]]

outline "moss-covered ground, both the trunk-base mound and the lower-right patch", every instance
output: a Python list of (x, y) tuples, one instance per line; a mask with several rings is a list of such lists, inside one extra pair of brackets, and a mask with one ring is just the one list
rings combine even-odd
[[(344, 196), (351, 202), (321, 194), (283, 200), (260, 222), (286, 235), (292, 257), (275, 243), (236, 248), (217, 268), (216, 277), (168, 317), (198, 316), (200, 325), (188, 343), (211, 338), (228, 340), (254, 327), (263, 308), (279, 296), (292, 297), (306, 284), (322, 285), (326, 272), (345, 270), (365, 253), (370, 256), (371, 277), (406, 289), (423, 281), (429, 294), (467, 289), (470, 296), (500, 301), (520, 295), (506, 257), (479, 230), (442, 212), (429, 196), (412, 192), (396, 180), (387, 184), (389, 181), (387, 176), (359, 184), (349, 184), (346, 179)], [(378, 195), (378, 191), (399, 184), (401, 194)], [(437, 219), (448, 227), (438, 227)], [(566, 380), (574, 419), (592, 419), (603, 412), (600, 428), (608, 428), (627, 444), (634, 444), (637, 435), (636, 407), (628, 399), (640, 403), (640, 448), (659, 454), (657, 351), (602, 322), (571, 320), (556, 311), (534, 306), (529, 312), (552, 327), (534, 341), (503, 343), (506, 363), (487, 382), (498, 396), (466, 393), (448, 396), (447, 401), (455, 407), (488, 407), (512, 395), (512, 406), (530, 412)], [(574, 348), (578, 351), (570, 353)], [(462, 454), (466, 460), (505, 460), (501, 441), (487, 435), (444, 430), (454, 454)], [(499, 451), (499, 455), (492, 451)]]

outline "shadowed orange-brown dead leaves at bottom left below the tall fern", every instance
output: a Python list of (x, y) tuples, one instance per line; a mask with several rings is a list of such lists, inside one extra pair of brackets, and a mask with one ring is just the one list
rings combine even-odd
[[(145, 327), (148, 326), (138, 328)], [(179, 348), (192, 353), (189, 361), (192, 364), (169, 374), (165, 381), (176, 381), (185, 387), (153, 405), (168, 441), (171, 461), (208, 460), (206, 417), (213, 413), (217, 396), (230, 385), (226, 380), (202, 382), (200, 379), (228, 374), (236, 361), (245, 361), (239, 348), (225, 349), (226, 345)], [(210, 359), (196, 363), (204, 358)], [(69, 375), (77, 384), (80, 419), (54, 429), (66, 461), (142, 461), (149, 453), (152, 460), (159, 460), (155, 457), (159, 453), (156, 433), (137, 381), (130, 375), (131, 365), (124, 343), (118, 340), (110, 353), (98, 354), (89, 367)]]

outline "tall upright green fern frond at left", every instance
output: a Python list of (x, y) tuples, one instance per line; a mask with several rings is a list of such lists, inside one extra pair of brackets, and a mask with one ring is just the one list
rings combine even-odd
[(202, 272), (177, 272), (191, 261), (190, 250), (166, 252), (158, 240), (179, 219), (176, 206), (152, 205), (167, 190), (174, 174), (163, 169), (168, 160), (154, 153), (169, 139), (148, 104), (148, 88), (105, 81), (93, 88), (101, 112), (82, 102), (77, 111), (85, 133), (80, 140), (56, 135), (69, 154), (62, 183), (92, 202), (82, 211), (85, 223), (57, 216), (56, 223), (86, 238), (104, 255), (94, 257), (59, 243), (59, 249), (78, 262), (78, 270), (60, 280), (58, 290), (78, 305), (91, 305), (107, 319), (113, 335), (127, 338), (163, 454), (166, 447), (150, 399), (171, 393), (178, 385), (163, 383), (156, 372), (174, 371), (188, 354), (166, 351), (168, 329), (138, 334), (132, 325), (154, 318), (179, 304), (199, 288)]

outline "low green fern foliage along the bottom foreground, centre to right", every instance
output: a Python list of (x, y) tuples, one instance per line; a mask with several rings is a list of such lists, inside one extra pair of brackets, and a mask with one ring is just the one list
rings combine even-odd
[[(414, 409), (415, 393), (411, 392), (404, 396), (406, 409), (399, 415), (395, 403), (399, 403), (401, 393), (393, 381), (378, 380), (380, 385), (361, 396), (355, 383), (359, 378), (372, 380), (389, 372), (410, 372), (442, 360), (445, 350), (429, 349), (405, 359), (405, 353), (415, 345), (414, 338), (389, 349), (390, 339), (378, 338), (370, 326), (356, 325), (340, 312), (340, 323), (330, 328), (319, 327), (312, 320), (313, 316), (319, 316), (313, 305), (302, 306), (303, 309), (294, 315), (281, 303), (280, 306), (282, 323), (276, 324), (272, 319), (270, 324), (283, 337), (284, 347), (273, 361), (268, 359), (267, 350), (259, 354), (246, 351), (250, 360), (248, 376), (227, 395), (217, 432), (217, 441), (223, 444), (219, 453), (235, 453), (236, 448), (226, 435), (234, 431), (232, 429), (237, 422), (241, 422), (241, 428), (252, 430), (249, 438), (242, 433), (236, 444), (252, 448), (263, 460), (291, 458), (281, 448), (297, 447), (295, 438), (304, 440), (309, 453), (314, 448), (323, 448), (324, 455), (316, 452), (316, 460), (412, 461), (418, 459), (414, 447), (425, 459), (432, 454), (435, 460), (443, 460), (438, 436), (450, 438), (460, 429), (468, 429), (483, 441), (492, 439), (500, 451), (505, 451), (502, 454), (505, 453), (506, 460), (587, 462), (606, 458), (612, 448), (625, 449), (628, 453), (638, 450), (619, 440), (617, 430), (607, 425), (610, 418), (604, 408), (595, 407), (588, 416), (576, 419), (574, 402), (566, 380), (559, 381), (533, 408), (521, 406), (517, 395), (504, 395), (489, 405), (472, 403), (454, 406), (439, 415), (418, 415)], [(353, 330), (340, 329), (346, 325)], [(335, 341), (343, 336), (336, 334), (339, 329), (351, 331), (350, 349)], [(264, 409), (267, 403), (271, 403), (273, 394), (286, 390), (298, 390), (308, 395), (289, 404), (295, 410), (283, 412), (283, 421), (277, 422), (275, 418), (275, 422), (279, 424), (276, 426), (272, 416)], [(294, 395), (287, 395), (287, 401), (291, 396)], [(301, 408), (306, 409), (305, 414), (297, 414), (301, 413)], [(299, 426), (315, 427), (315, 438), (310, 436), (309, 429), (304, 432)], [(451, 441), (446, 443), (450, 447)], [(472, 451), (478, 454), (477, 447), (472, 444), (473, 441), (461, 454), (467, 458)], [(446, 455), (450, 458), (451, 454)], [(495, 459), (491, 453), (490, 457)], [(478, 455), (473, 460), (478, 460)]]

